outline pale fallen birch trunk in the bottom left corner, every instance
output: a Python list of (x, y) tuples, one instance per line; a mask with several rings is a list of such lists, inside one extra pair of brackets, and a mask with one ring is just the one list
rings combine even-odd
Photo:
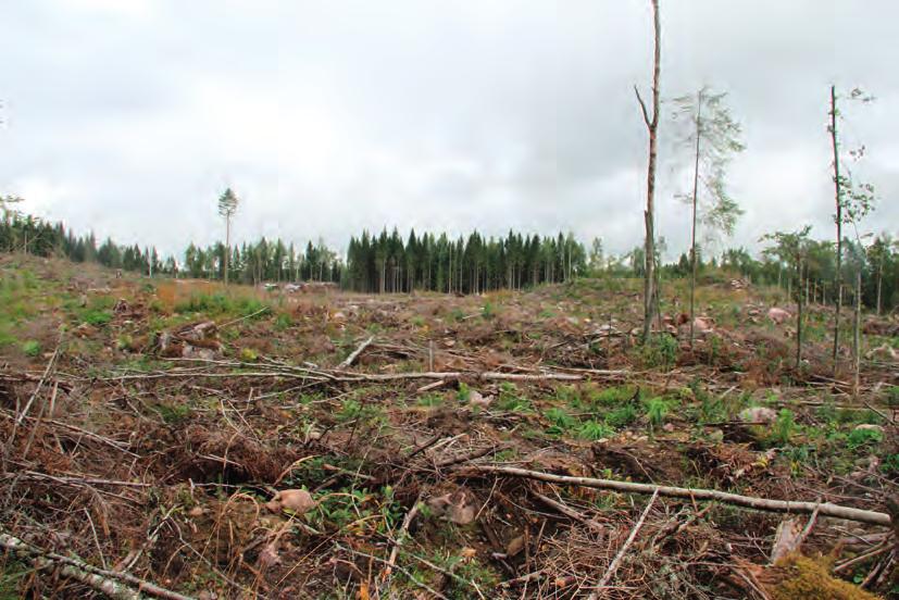
[(163, 600), (192, 600), (189, 596), (165, 589), (127, 573), (98, 568), (77, 559), (48, 552), (2, 532), (0, 532), (0, 547), (20, 557), (28, 558), (38, 568), (62, 565), (60, 573), (64, 577), (76, 579), (115, 600), (140, 600), (142, 595), (162, 598)]

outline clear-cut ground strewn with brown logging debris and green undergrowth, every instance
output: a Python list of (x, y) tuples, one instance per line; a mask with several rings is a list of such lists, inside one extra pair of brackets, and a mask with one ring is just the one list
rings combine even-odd
[(638, 290), (225, 292), (2, 257), (0, 598), (895, 596), (896, 321), (853, 393), (827, 308), (796, 371), (776, 290), (707, 282), (692, 350), (673, 324), (637, 345)]

